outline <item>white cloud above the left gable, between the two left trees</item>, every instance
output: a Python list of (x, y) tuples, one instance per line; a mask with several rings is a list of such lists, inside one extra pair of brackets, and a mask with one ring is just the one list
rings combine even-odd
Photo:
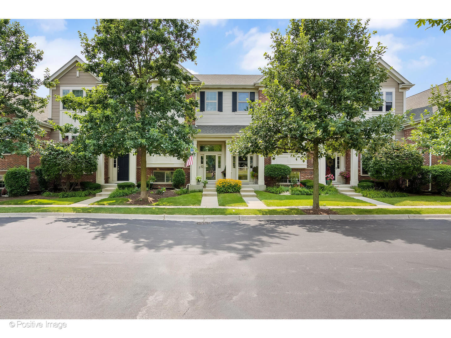
[[(46, 37), (35, 36), (30, 37), (30, 41), (36, 43), (37, 49), (44, 51), (44, 57), (33, 73), (37, 78), (43, 78), (46, 68), (50, 69), (50, 73), (53, 74), (75, 55), (82, 57), (78, 39), (57, 38), (47, 40)], [(37, 91), (39, 96), (47, 96), (48, 94), (49, 90), (46, 87), (40, 87)]]

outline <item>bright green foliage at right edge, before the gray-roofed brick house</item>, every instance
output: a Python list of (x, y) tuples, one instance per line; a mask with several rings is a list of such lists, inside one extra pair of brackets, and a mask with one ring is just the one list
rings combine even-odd
[(412, 129), (410, 139), (417, 142), (423, 152), (451, 159), (451, 82), (446, 79), (443, 92), (438, 87), (431, 86), (429, 103), (437, 106), (437, 110), (428, 119), (422, 116), (419, 122), (410, 116)]

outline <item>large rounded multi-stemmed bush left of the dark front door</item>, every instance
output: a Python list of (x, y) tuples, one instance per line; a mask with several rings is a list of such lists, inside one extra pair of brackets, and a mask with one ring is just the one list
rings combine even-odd
[(61, 185), (65, 192), (72, 191), (83, 174), (91, 174), (96, 170), (97, 156), (79, 151), (70, 143), (48, 142), (41, 151), (43, 177)]

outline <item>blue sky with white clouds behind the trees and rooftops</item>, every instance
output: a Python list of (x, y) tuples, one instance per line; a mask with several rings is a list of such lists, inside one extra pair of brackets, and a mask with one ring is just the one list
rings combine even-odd
[[(56, 72), (74, 55), (83, 59), (78, 31), (92, 36), (91, 19), (14, 19), (20, 22), (44, 51), (44, 59), (35, 75), (42, 77), (46, 68)], [(382, 57), (396, 71), (415, 86), (407, 96), (427, 90), (431, 84), (442, 84), (451, 78), (451, 32), (444, 34), (437, 28), (417, 28), (414, 19), (375, 19), (370, 29), (377, 30), (372, 44), (381, 41), (387, 46)], [(194, 74), (258, 74), (266, 65), (263, 57), (270, 52), (271, 32), (285, 32), (285, 19), (203, 19), (197, 33), (200, 44), (197, 64), (183, 64)], [(40, 88), (38, 95), (48, 95)]]

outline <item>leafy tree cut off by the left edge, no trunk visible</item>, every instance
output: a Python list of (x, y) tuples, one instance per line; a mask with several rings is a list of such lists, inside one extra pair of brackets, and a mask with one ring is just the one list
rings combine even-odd
[(45, 135), (33, 114), (44, 111), (48, 97), (37, 96), (36, 90), (57, 81), (47, 81), (48, 69), (44, 81), (33, 77), (43, 54), (18, 22), (0, 19), (0, 158), (5, 153), (29, 156)]

